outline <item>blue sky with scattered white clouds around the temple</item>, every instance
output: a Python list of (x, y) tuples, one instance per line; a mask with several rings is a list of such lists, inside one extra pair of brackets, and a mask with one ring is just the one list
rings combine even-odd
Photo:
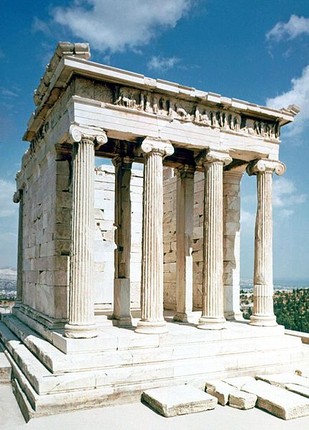
[[(308, 0), (1, 0), (0, 267), (16, 265), (15, 174), (32, 96), (58, 41), (93, 61), (301, 113), (274, 178), (274, 277), (309, 280)], [(255, 178), (242, 184), (242, 277), (253, 272)]]

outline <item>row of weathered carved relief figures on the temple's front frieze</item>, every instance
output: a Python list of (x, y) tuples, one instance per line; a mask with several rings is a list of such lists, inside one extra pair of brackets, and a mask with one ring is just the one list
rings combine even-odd
[(271, 140), (279, 138), (277, 122), (250, 118), (222, 106), (209, 107), (135, 88), (115, 89), (114, 105), (166, 117), (171, 121), (176, 119), (192, 122), (201, 126), (256, 135)]

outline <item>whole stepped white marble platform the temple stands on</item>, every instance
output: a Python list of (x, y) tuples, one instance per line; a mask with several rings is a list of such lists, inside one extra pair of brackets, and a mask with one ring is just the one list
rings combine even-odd
[(309, 348), (284, 327), (227, 322), (223, 330), (199, 330), (172, 322), (168, 333), (137, 334), (105, 321), (95, 339), (44, 340), (15, 316), (0, 322), (0, 340), (12, 365), (12, 384), (26, 419), (73, 409), (131, 402), (149, 388), (295, 371)]

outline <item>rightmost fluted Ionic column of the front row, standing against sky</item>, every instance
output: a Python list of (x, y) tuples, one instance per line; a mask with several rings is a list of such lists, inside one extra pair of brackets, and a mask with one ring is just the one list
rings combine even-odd
[(275, 326), (273, 307), (272, 180), (273, 172), (282, 175), (285, 165), (279, 161), (258, 160), (247, 167), (257, 177), (257, 212), (254, 242), (253, 314), (250, 324)]

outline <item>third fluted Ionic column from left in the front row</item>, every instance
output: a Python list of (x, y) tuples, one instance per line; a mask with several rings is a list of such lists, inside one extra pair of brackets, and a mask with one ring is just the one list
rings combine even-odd
[(199, 160), (204, 167), (203, 309), (198, 328), (224, 328), (223, 307), (223, 166), (227, 153), (208, 151)]

